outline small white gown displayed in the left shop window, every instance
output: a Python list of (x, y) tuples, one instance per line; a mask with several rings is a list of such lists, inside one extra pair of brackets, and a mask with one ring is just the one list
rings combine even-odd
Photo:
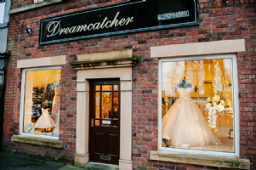
[(38, 118), (35, 125), (36, 128), (55, 127), (55, 123), (51, 116), (48, 114), (48, 109), (42, 109), (42, 115)]

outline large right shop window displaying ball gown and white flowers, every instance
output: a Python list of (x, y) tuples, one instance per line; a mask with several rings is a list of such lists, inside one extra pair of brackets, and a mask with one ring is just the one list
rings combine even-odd
[(234, 68), (235, 55), (160, 60), (160, 150), (236, 155)]

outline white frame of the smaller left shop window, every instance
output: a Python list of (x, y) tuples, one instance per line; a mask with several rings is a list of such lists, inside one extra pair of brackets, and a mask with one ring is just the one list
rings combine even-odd
[[(48, 135), (42, 135), (42, 134), (23, 133), (26, 71), (43, 71), (43, 70), (57, 70), (57, 69), (61, 69), (61, 66), (49, 66), (49, 67), (40, 67), (40, 68), (29, 68), (29, 69), (23, 69), (23, 70), (22, 70), (21, 102), (20, 102), (20, 135), (26, 135), (26, 136), (31, 136), (31, 137), (47, 138), (47, 139), (59, 139), (59, 137), (56, 137), (56, 136), (48, 136)], [(60, 120), (59, 120), (59, 121), (60, 121)]]

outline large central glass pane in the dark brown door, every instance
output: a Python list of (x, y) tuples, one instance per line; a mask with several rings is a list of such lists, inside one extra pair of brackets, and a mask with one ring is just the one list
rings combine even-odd
[(101, 109), (102, 118), (111, 118), (111, 109), (112, 109), (112, 93), (102, 92), (102, 109)]

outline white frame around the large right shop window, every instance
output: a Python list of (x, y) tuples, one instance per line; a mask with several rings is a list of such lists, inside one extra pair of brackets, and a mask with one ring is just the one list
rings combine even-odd
[[(174, 62), (174, 61), (187, 61), (187, 60), (202, 60), (202, 59), (232, 59), (232, 74), (233, 74), (233, 110), (234, 110), (234, 150), (235, 152), (221, 152), (210, 150), (185, 150), (179, 148), (167, 148), (162, 147), (162, 62)], [(216, 55), (200, 55), (190, 57), (168, 58), (159, 59), (158, 62), (158, 150), (159, 151), (172, 151), (191, 154), (204, 154), (214, 156), (239, 156), (239, 108), (238, 108), (238, 82), (237, 82), (237, 63), (236, 54), (216, 54)]]

